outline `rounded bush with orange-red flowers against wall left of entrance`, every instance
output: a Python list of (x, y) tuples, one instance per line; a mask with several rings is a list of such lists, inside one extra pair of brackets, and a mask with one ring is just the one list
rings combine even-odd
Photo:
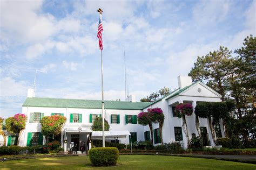
[(62, 125), (66, 122), (66, 117), (53, 115), (45, 116), (41, 120), (42, 133), (47, 137), (61, 133)]

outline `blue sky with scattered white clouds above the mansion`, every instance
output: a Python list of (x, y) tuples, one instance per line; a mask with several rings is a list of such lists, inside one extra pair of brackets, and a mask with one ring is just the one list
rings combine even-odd
[(256, 1), (1, 1), (0, 116), (37, 97), (101, 99), (97, 9), (103, 10), (105, 100), (178, 87), (197, 56), (255, 36)]

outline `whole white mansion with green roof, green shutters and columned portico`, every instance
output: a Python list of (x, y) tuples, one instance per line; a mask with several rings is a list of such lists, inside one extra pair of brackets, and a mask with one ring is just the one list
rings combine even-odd
[[(187, 147), (187, 139), (183, 132), (182, 119), (176, 117), (173, 110), (178, 103), (191, 103), (193, 108), (198, 101), (220, 102), (221, 95), (201, 82), (192, 83), (191, 77), (179, 76), (179, 88), (170, 94), (151, 102), (135, 102), (134, 96), (126, 101), (105, 101), (105, 119), (110, 124), (110, 131), (105, 132), (106, 141), (117, 141), (129, 144), (133, 141), (149, 140), (154, 138), (154, 145), (160, 144), (158, 124), (153, 125), (153, 137), (150, 136), (149, 126), (137, 123), (139, 112), (147, 108), (161, 108), (165, 115), (163, 126), (163, 141), (181, 141), (183, 147)], [(79, 145), (84, 141), (86, 149), (90, 149), (90, 139), (102, 138), (102, 133), (93, 132), (92, 122), (95, 117), (102, 114), (102, 102), (99, 100), (75, 100), (60, 98), (35, 97), (33, 89), (28, 90), (28, 97), (23, 103), (22, 114), (28, 116), (26, 128), (22, 134), (19, 146), (31, 146), (44, 144), (45, 138), (41, 133), (39, 123), (43, 116), (62, 115), (67, 121), (63, 126), (61, 134), (61, 145), (67, 151), (71, 141)], [(196, 116), (187, 117), (188, 135), (198, 136), (195, 125)], [(213, 145), (210, 127), (207, 119), (199, 118), (201, 135), (204, 145)], [(224, 136), (223, 126), (221, 133)]]

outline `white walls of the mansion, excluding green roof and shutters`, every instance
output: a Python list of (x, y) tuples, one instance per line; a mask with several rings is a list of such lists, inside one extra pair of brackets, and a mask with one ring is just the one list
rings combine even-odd
[[(137, 141), (144, 140), (144, 132), (149, 131), (149, 126), (143, 126), (139, 124), (126, 124), (125, 115), (138, 115), (139, 112), (146, 111), (147, 108), (161, 108), (165, 115), (165, 121), (163, 126), (163, 141), (164, 143), (169, 143), (172, 141), (176, 141), (175, 134), (174, 134), (174, 127), (181, 127), (182, 126), (182, 119), (178, 117), (173, 117), (172, 114), (172, 107), (174, 107), (178, 103), (191, 103), (193, 108), (196, 107), (196, 102), (198, 101), (205, 101), (205, 102), (220, 102), (220, 95), (212, 90), (211, 88), (207, 87), (205, 84), (201, 82), (197, 82), (192, 84), (191, 77), (178, 77), (179, 81), (179, 89), (174, 90), (170, 95), (167, 95), (160, 100), (153, 102), (151, 104), (147, 104), (146, 107), (141, 109), (105, 109), (105, 119), (110, 124), (111, 131), (118, 131), (118, 130), (128, 130), (129, 132), (136, 132), (137, 133)], [(31, 92), (31, 91), (30, 91)], [(31, 93), (30, 93), (31, 95)], [(134, 97), (131, 97), (131, 99)], [(114, 101), (118, 102), (118, 101)], [(138, 103), (132, 101), (132, 103)], [(139, 103), (138, 103), (139, 104)], [(67, 121), (63, 126), (62, 130), (62, 140), (61, 144), (66, 151), (68, 149), (68, 145), (71, 141), (72, 134), (79, 134), (79, 141), (88, 141), (91, 135), (91, 126), (90, 123), (90, 114), (101, 114), (101, 109), (89, 109), (89, 108), (58, 108), (58, 107), (30, 107), (29, 105), (23, 106), (22, 113), (28, 116), (28, 122), (26, 123), (26, 128), (24, 133), (22, 134), (22, 138), (20, 140), (20, 146), (26, 146), (26, 142), (28, 139), (29, 132), (41, 132), (41, 124), (40, 123), (29, 123), (30, 120), (30, 113), (44, 113), (44, 116), (51, 116), (51, 113), (62, 113)], [(82, 122), (81, 123), (70, 123), (70, 115), (71, 114), (82, 114)], [(119, 115), (120, 123), (111, 123), (111, 115)], [(196, 116), (193, 114), (192, 116), (186, 116), (187, 126), (188, 126), (188, 136), (190, 139), (192, 138), (192, 133), (195, 133), (198, 136), (198, 132), (195, 126), (195, 118)], [(208, 132), (208, 138), (210, 140), (211, 145), (213, 145), (213, 139), (211, 136), (210, 127), (208, 124), (207, 119), (200, 118), (199, 120), (201, 127), (206, 127)], [(78, 131), (78, 128), (80, 131)], [(153, 129), (157, 129), (158, 124), (153, 124)], [(184, 148), (187, 147), (187, 139), (185, 136), (184, 131), (182, 131), (183, 144)], [(152, 138), (152, 137), (151, 137)], [(64, 140), (68, 140), (65, 144)], [(44, 139), (45, 141), (45, 139)], [(129, 137), (126, 139), (121, 139), (120, 143), (129, 144)], [(155, 144), (157, 145), (157, 144)], [(87, 149), (91, 147), (89, 144)]]

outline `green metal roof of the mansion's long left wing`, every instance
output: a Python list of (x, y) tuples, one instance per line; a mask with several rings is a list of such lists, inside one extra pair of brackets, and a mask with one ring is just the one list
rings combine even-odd
[[(142, 110), (151, 102), (123, 102), (104, 101), (106, 109)], [(79, 100), (66, 98), (41, 98), (27, 97), (23, 107), (46, 107), (46, 108), (84, 108), (101, 109), (102, 101), (99, 100)]]

